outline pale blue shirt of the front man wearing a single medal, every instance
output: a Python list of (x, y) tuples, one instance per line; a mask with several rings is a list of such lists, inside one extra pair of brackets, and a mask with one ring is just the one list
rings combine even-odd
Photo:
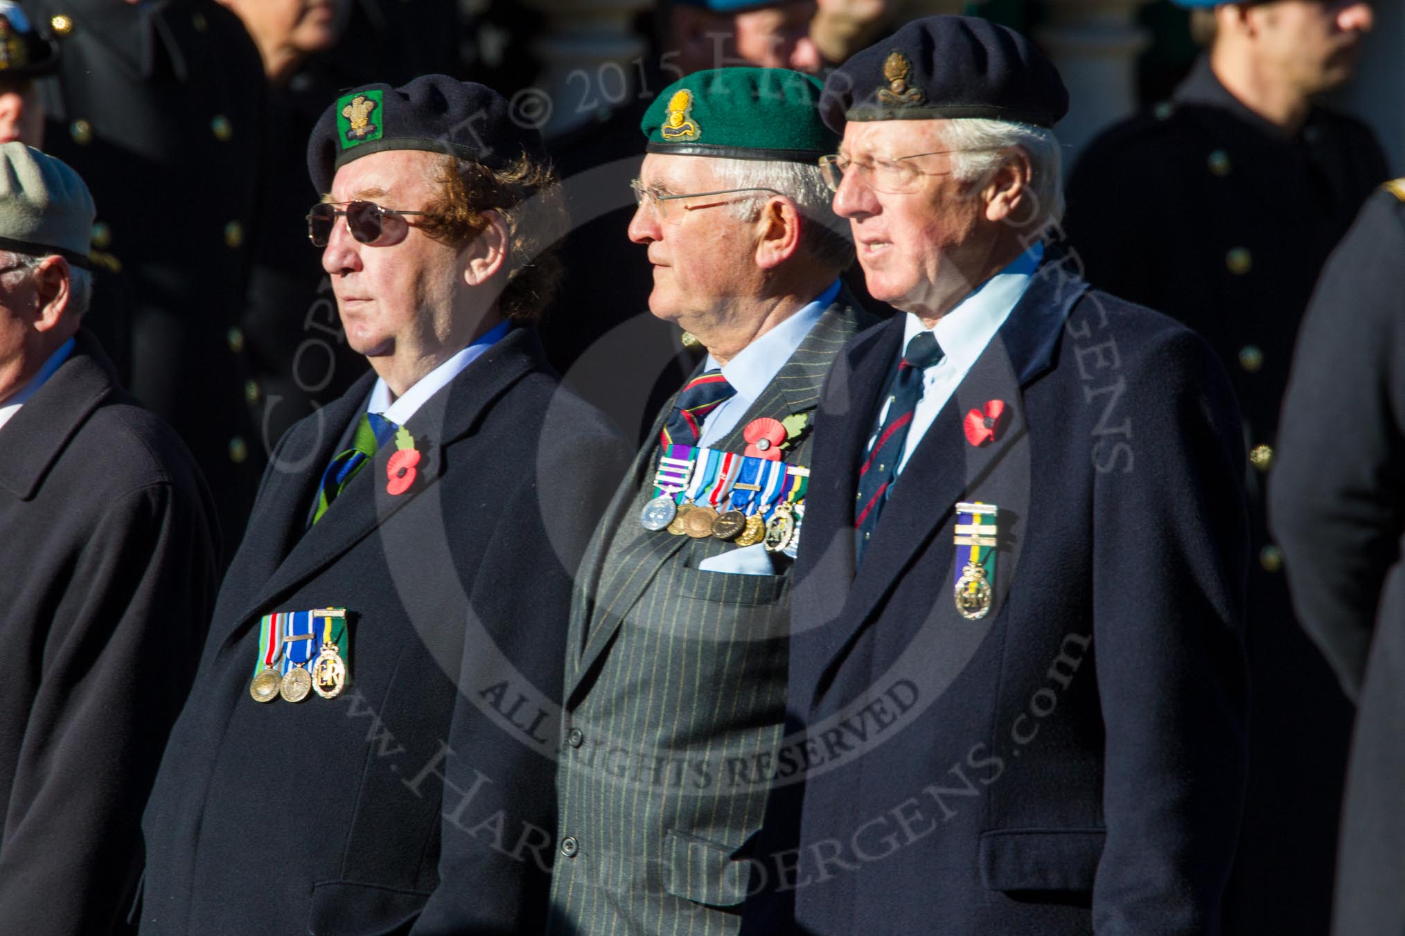
[[(976, 286), (975, 292), (957, 303), (930, 328), (937, 344), (941, 345), (944, 356), (922, 372), (922, 400), (917, 401), (917, 408), (912, 414), (912, 425), (908, 428), (908, 441), (902, 446), (902, 460), (898, 462), (896, 474), (901, 474), (908, 466), (912, 452), (965, 379), (971, 365), (991, 344), (991, 338), (1000, 330), (1005, 320), (1010, 317), (1014, 306), (1024, 296), (1024, 290), (1030, 288), (1030, 279), (1033, 279), (1043, 258), (1044, 244), (1034, 244), (1005, 269)], [(906, 319), (902, 330), (903, 348), (908, 347), (908, 341), (913, 335), (927, 330), (917, 316), (908, 313)], [(880, 415), (880, 424), (887, 415), (885, 406)]]

